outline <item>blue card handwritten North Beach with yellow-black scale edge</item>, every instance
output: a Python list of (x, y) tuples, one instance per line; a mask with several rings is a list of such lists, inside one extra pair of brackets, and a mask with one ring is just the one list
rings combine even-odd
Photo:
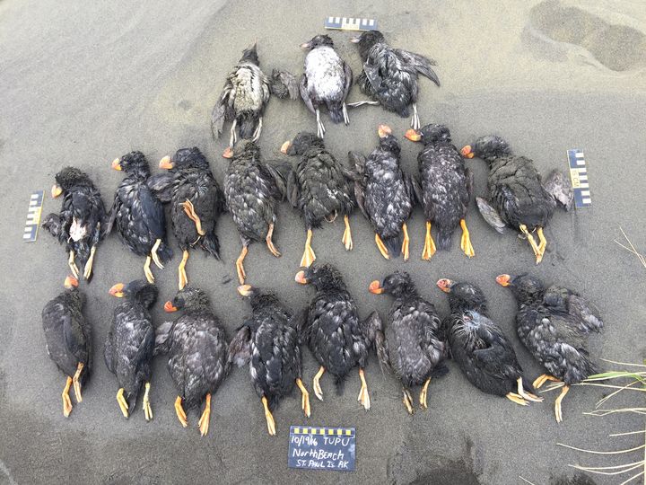
[(290, 428), (290, 468), (354, 472), (356, 455), (354, 428)]

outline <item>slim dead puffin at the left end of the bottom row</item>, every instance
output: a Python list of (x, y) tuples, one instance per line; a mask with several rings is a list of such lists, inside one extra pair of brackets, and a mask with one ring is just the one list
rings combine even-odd
[(83, 401), (81, 388), (92, 369), (92, 326), (83, 317), (85, 295), (77, 287), (76, 278), (65, 278), (65, 291), (42, 311), (48, 356), (67, 376), (62, 394), (65, 418), (72, 412), (70, 387), (74, 385), (76, 402)]

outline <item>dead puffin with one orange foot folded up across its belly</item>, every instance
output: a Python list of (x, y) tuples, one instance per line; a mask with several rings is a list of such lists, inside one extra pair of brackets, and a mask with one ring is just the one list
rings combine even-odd
[(195, 146), (181, 148), (172, 158), (165, 156), (160, 168), (169, 172), (153, 175), (148, 186), (162, 202), (170, 202), (170, 221), (182, 251), (179, 289), (188, 284), (188, 249), (202, 248), (220, 259), (220, 242), (215, 225), (225, 210), (224, 193), (215, 180), (205, 155)]

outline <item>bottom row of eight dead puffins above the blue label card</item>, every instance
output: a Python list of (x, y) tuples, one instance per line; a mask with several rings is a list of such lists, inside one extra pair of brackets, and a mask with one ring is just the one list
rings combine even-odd
[[(365, 410), (371, 407), (364, 369), (372, 348), (382, 369), (401, 383), (403, 402), (411, 414), (415, 407), (411, 388), (422, 387), (419, 405), (426, 409), (429, 384), (432, 377), (446, 374), (448, 357), (481, 391), (523, 406), (543, 401), (535, 388), (554, 381), (562, 386), (554, 402), (559, 422), (563, 419), (561, 402), (570, 385), (595, 372), (587, 340), (591, 331), (603, 328), (598, 311), (572, 290), (545, 287), (532, 276), (500, 275), (496, 280), (511, 288), (519, 304), (520, 341), (546, 368), (546, 374), (533, 384), (524, 380), (511, 341), (491, 320), (485, 295), (476, 285), (446, 278), (437, 282), (450, 303), (450, 316), (442, 321), (408, 273), (396, 271), (382, 282), (373, 281), (368, 288), (372, 294), (394, 298), (384, 329), (377, 312), (365, 320), (359, 318), (354, 299), (333, 266), (312, 265), (299, 271), (295, 280), (316, 289), (309, 307), (296, 313), (271, 292), (250, 285), (238, 287), (240, 295), (249, 299), (252, 312), (231, 341), (208, 296), (198, 288), (184, 287), (166, 302), (166, 312), (182, 314), (155, 328), (149, 312), (158, 295), (155, 285), (140, 279), (111, 287), (110, 295), (125, 301), (114, 309), (103, 355), (118, 380), (117, 401), (123, 416), (132, 414), (144, 389), (144, 416), (153, 419), (150, 389), (152, 360), (157, 354), (168, 357), (168, 371), (178, 390), (175, 411), (182, 426), (188, 426), (187, 411), (204, 403), (198, 421), (203, 436), (209, 428), (212, 395), (233, 363), (249, 366), (270, 435), (275, 435), (273, 411), (294, 387), (301, 391), (301, 408), (309, 418), (310, 393), (302, 382), (301, 343), (308, 345), (320, 365), (312, 381), (319, 400), (323, 401), (322, 375), (332, 375), (341, 393), (346, 378), (358, 367), (361, 389), (357, 399)], [(65, 288), (45, 305), (42, 321), (49, 357), (66, 375), (62, 398), (67, 417), (72, 411), (70, 389), (74, 388), (76, 401), (81, 402), (83, 385), (91, 374), (92, 324), (83, 317), (85, 296), (78, 281), (65, 278)]]

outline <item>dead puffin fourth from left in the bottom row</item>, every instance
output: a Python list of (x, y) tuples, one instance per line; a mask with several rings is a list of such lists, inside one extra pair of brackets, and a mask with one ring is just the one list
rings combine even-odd
[(265, 409), (267, 430), (275, 435), (272, 411), (293, 391), (301, 390), (301, 408), (310, 418), (310, 393), (302, 384), (300, 331), (303, 315), (294, 315), (272, 293), (250, 285), (238, 287), (252, 314), (229, 344), (229, 362), (249, 364), (249, 374)]

